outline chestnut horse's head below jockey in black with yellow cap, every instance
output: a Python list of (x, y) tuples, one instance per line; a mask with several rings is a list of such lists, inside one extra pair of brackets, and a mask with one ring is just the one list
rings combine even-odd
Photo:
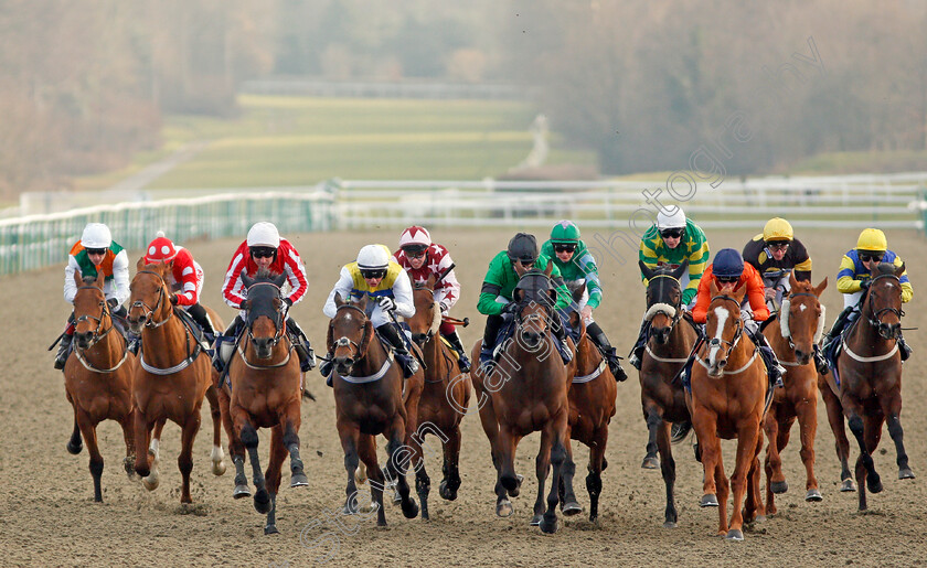
[(807, 365), (814, 354), (814, 344), (821, 340), (824, 332), (824, 307), (821, 304), (821, 292), (828, 287), (828, 279), (817, 287), (808, 281), (795, 279), (789, 275), (790, 292), (782, 300), (779, 310), (779, 330), (795, 350), (795, 357), (799, 365)]

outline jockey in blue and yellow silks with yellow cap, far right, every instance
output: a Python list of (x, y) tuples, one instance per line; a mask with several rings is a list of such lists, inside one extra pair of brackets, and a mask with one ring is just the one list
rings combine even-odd
[[(860, 317), (863, 291), (869, 289), (873, 262), (892, 262), (902, 266), (902, 258), (894, 251), (888, 250), (888, 239), (885, 233), (877, 228), (865, 228), (860, 233), (856, 240), (856, 248), (850, 249), (843, 255), (840, 261), (840, 271), (837, 272), (837, 289), (843, 292), (843, 311), (833, 322), (833, 328), (824, 337), (824, 350), (828, 344), (839, 337), (846, 324)], [(907, 271), (902, 274), (902, 303), (910, 301), (914, 289)], [(910, 356), (910, 347), (903, 336), (898, 336), (898, 350), (902, 353), (902, 361)]]

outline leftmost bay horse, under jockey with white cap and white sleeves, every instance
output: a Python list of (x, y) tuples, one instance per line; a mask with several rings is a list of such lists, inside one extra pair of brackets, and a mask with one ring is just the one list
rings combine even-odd
[(96, 427), (103, 420), (115, 420), (122, 428), (126, 441), (126, 473), (135, 475), (135, 438), (132, 425), (132, 377), (136, 356), (129, 352), (126, 339), (113, 323), (113, 312), (103, 293), (104, 275), (82, 279), (74, 272), (77, 293), (74, 296), (74, 351), (64, 365), (64, 392), (74, 408), (74, 430), (67, 451), (81, 453), (82, 440), (87, 441), (90, 454), (90, 475), (94, 479), (94, 501), (103, 502), (103, 456), (99, 453)]

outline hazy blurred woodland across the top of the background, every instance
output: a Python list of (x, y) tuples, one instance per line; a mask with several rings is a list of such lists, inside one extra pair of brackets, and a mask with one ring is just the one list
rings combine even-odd
[(915, 0), (0, 0), (0, 194), (118, 168), (270, 75), (537, 86), (606, 173), (923, 151), (924, 30)]

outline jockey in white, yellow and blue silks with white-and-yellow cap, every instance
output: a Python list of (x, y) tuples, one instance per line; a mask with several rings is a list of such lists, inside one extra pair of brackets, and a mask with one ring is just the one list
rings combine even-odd
[[(370, 322), (380, 336), (393, 345), (393, 354), (403, 367), (403, 376), (408, 378), (418, 371), (418, 362), (406, 349), (405, 332), (399, 328), (394, 314), (395, 312), (403, 318), (412, 318), (415, 314), (412, 283), (403, 267), (391, 259), (390, 249), (385, 245), (366, 245), (358, 253), (355, 261), (341, 267), (338, 281), (322, 309), (329, 318), (334, 318), (338, 312), (334, 294), (343, 300), (366, 296)], [(328, 377), (328, 386), (332, 386), (332, 356), (333, 354), (329, 353), (319, 367), (322, 376)]]

